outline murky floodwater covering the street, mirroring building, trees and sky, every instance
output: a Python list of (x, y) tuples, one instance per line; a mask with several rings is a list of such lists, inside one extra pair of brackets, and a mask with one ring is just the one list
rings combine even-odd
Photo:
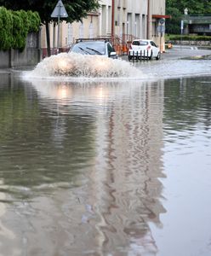
[(134, 66), (0, 73), (0, 255), (210, 255), (211, 61)]

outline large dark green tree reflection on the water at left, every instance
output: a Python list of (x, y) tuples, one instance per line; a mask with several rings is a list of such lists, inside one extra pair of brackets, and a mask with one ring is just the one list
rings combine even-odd
[(70, 109), (66, 115), (49, 113), (34, 94), (20, 82), (13, 90), (10, 84), (1, 90), (3, 183), (28, 188), (43, 183), (77, 185), (80, 169), (94, 156), (94, 117)]

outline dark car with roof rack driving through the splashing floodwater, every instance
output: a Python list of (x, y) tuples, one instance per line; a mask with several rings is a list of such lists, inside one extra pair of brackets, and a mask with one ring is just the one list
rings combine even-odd
[(83, 55), (104, 55), (109, 58), (117, 59), (117, 53), (108, 40), (77, 39), (69, 53), (80, 53)]

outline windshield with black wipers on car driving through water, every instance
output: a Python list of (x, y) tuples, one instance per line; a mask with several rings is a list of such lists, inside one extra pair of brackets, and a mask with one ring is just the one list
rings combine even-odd
[(105, 55), (105, 43), (78, 43), (75, 44), (72, 49), (72, 52), (81, 53), (83, 55)]

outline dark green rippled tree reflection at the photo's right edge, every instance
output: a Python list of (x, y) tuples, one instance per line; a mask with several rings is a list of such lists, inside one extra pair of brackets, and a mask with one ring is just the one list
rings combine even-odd
[(210, 78), (165, 81), (164, 122), (174, 130), (190, 129), (198, 122), (211, 125)]

